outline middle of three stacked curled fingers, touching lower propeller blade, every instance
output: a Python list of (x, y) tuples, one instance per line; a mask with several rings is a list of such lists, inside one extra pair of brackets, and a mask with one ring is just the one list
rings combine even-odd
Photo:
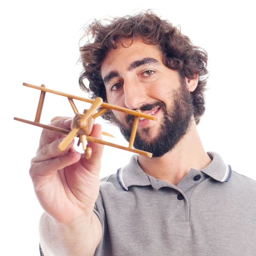
[(61, 155), (67, 154), (68, 152), (73, 151), (74, 140), (67, 146), (65, 151), (60, 151), (58, 145), (62, 139), (55, 140), (50, 144), (46, 144), (44, 148), (38, 151), (37, 155), (31, 160), (31, 162), (42, 162), (54, 157), (59, 157)]

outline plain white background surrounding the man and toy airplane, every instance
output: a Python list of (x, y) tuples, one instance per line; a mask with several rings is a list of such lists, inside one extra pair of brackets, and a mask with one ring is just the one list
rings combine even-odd
[[(1, 246), (0, 255), (39, 255), (38, 224), (43, 212), (29, 177), (41, 128), (33, 120), (38, 90), (22, 83), (86, 97), (78, 85), (82, 27), (93, 18), (154, 9), (209, 54), (206, 112), (198, 125), (206, 151), (221, 154), (234, 171), (256, 180), (255, 15), (253, 1), (9, 1), (0, 6), (1, 59)], [(76, 103), (79, 110), (87, 105)], [(47, 94), (41, 116), (73, 116), (67, 101)], [(102, 123), (100, 118), (97, 122)], [(127, 145), (117, 129), (115, 143)], [(80, 149), (81, 150), (81, 149)], [(101, 177), (126, 164), (131, 153), (105, 146)], [(244, 198), (246, 200), (246, 198)]]

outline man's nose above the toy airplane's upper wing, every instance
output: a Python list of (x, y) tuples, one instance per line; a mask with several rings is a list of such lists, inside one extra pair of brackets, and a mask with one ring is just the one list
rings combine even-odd
[(130, 109), (139, 109), (147, 102), (145, 87), (139, 82), (124, 83), (125, 106)]

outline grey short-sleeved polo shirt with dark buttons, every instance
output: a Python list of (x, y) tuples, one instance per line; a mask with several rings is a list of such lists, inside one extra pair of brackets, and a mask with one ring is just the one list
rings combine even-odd
[(221, 156), (175, 186), (147, 175), (138, 155), (101, 180), (95, 256), (255, 256), (256, 181)]

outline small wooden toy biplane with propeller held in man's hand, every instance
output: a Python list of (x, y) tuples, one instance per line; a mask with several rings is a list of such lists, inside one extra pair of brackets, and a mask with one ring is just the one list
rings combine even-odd
[[(59, 150), (64, 151), (67, 148), (67, 146), (70, 144), (70, 142), (75, 137), (79, 137), (78, 145), (80, 144), (80, 142), (82, 143), (83, 150), (85, 151), (85, 156), (87, 157), (87, 159), (90, 158), (92, 152), (91, 152), (91, 148), (86, 146), (86, 140), (96, 142), (96, 143), (100, 143), (100, 144), (103, 144), (103, 145), (108, 145), (108, 146), (111, 146), (111, 147), (114, 147), (114, 148), (120, 148), (120, 149), (123, 149), (123, 150), (131, 151), (131, 152), (134, 152), (134, 153), (137, 153), (137, 154), (142, 154), (142, 155), (147, 156), (147, 157), (152, 157), (152, 153), (147, 152), (147, 151), (134, 149), (132, 147), (133, 147), (135, 135), (136, 135), (136, 132), (137, 132), (139, 118), (144, 117), (144, 118), (151, 119), (151, 120), (157, 120), (157, 117), (151, 116), (151, 115), (148, 115), (148, 114), (145, 114), (145, 113), (141, 113), (140, 110), (134, 111), (134, 110), (130, 110), (128, 108), (122, 108), (122, 107), (119, 107), (119, 106), (116, 106), (116, 105), (111, 105), (111, 104), (105, 103), (105, 102), (103, 102), (102, 98), (100, 98), (100, 97), (96, 98), (95, 100), (86, 99), (86, 98), (82, 98), (82, 97), (79, 97), (79, 96), (75, 96), (75, 95), (71, 95), (71, 94), (62, 93), (62, 92), (59, 92), (59, 91), (47, 89), (44, 84), (42, 84), (41, 86), (36, 86), (36, 85), (33, 85), (33, 84), (23, 83), (23, 85), (27, 86), (27, 87), (34, 88), (34, 89), (41, 90), (39, 103), (38, 103), (38, 108), (37, 108), (37, 112), (36, 112), (36, 115), (35, 115), (35, 121), (33, 122), (33, 121), (29, 121), (29, 120), (21, 119), (21, 118), (17, 118), (17, 117), (14, 117), (14, 119), (17, 120), (17, 121), (20, 121), (20, 122), (28, 123), (30, 125), (35, 125), (35, 126), (39, 126), (41, 128), (45, 128), (45, 129), (49, 129), (49, 130), (52, 130), (52, 131), (57, 131), (57, 132), (60, 132), (60, 133), (63, 133), (63, 134), (67, 134), (67, 136), (63, 140), (61, 140), (61, 143), (59, 143), (59, 145), (58, 145)], [(62, 128), (58, 128), (56, 126), (44, 125), (44, 124), (40, 123), (41, 113), (42, 113), (43, 105), (44, 105), (44, 97), (45, 97), (45, 94), (47, 92), (67, 97), (67, 99), (69, 100), (70, 105), (73, 108), (73, 111), (75, 112), (75, 116), (74, 116), (74, 118), (72, 120), (72, 124), (71, 124), (71, 131), (66, 130), (66, 129), (62, 129)], [(92, 105), (89, 108), (89, 110), (84, 110), (84, 113), (81, 114), (81, 113), (78, 112), (78, 110), (76, 108), (76, 105), (73, 102), (73, 99), (77, 99), (77, 100), (80, 100), (80, 101), (83, 101), (83, 102), (89, 102)], [(95, 111), (99, 107), (102, 107), (102, 109), (100, 111), (98, 111), (97, 113), (95, 113)], [(114, 143), (110, 143), (110, 142), (107, 142), (107, 141), (100, 140), (100, 139), (97, 139), (95, 137), (89, 136), (91, 131), (92, 131), (92, 128), (93, 128), (94, 119), (96, 117), (102, 115), (106, 111), (108, 111), (108, 109), (122, 111), (122, 112), (125, 112), (125, 113), (128, 113), (130, 115), (135, 116), (128, 147), (118, 145), (118, 144), (114, 144)], [(105, 133), (105, 132), (102, 132), (102, 135), (107, 135), (107, 136), (113, 137), (111, 134), (108, 134), (108, 133)]]

